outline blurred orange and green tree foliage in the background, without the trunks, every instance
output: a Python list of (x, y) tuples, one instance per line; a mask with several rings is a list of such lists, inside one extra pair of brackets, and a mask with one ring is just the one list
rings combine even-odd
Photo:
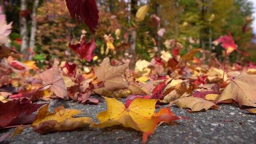
[[(15, 40), (19, 37), (19, 0), (4, 0), (8, 22), (13, 21), (10, 35), (12, 45), (19, 49)], [(247, 60), (255, 60), (252, 50), (252, 3), (249, 0), (134, 0), (135, 10), (144, 4), (150, 9), (144, 21), (135, 23), (131, 16), (131, 4), (127, 0), (98, 0), (100, 21), (95, 34), (91, 34), (84, 24), (77, 24), (69, 16), (64, 0), (40, 0), (38, 8), (38, 26), (36, 32), (35, 60), (53, 60), (58, 56), (62, 60), (79, 60), (68, 48), (69, 43), (78, 43), (81, 35), (90, 41), (95, 38), (95, 54), (102, 58), (112, 55), (117, 59), (129, 57), (129, 38), (132, 29), (136, 29), (136, 59), (150, 60), (157, 54), (157, 40), (160, 48), (171, 52), (164, 44), (166, 40), (176, 40), (183, 45), (180, 54), (202, 47), (222, 56), (222, 48), (211, 44), (220, 36), (232, 34), (238, 49), (252, 55)], [(28, 9), (32, 9), (32, 0), (28, 0)], [(159, 28), (152, 25), (151, 15), (161, 18), (160, 28), (165, 28), (163, 37), (157, 36)], [(31, 18), (28, 16), (28, 21)], [(86, 32), (82, 33), (82, 30)], [(116, 30), (120, 35), (116, 36)], [(111, 34), (111, 35), (110, 35)], [(105, 36), (105, 38), (104, 38)], [(106, 36), (111, 39), (115, 49), (107, 48)], [(212, 49), (210, 49), (212, 48)], [(109, 52), (108, 52), (109, 51)], [(44, 55), (43, 55), (44, 53)], [(240, 58), (233, 53), (232, 60)], [(94, 63), (94, 62), (92, 62)]]

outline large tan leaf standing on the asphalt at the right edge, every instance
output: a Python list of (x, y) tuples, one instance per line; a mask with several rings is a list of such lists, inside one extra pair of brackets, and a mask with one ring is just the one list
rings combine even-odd
[(221, 93), (218, 101), (232, 99), (242, 105), (256, 107), (256, 75), (241, 73)]

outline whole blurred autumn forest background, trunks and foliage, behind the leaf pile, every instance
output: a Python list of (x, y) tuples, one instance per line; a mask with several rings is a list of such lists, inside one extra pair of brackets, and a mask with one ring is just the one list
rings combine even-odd
[[(253, 4), (249, 0), (97, 0), (99, 24), (96, 33), (70, 18), (64, 0), (0, 0), (12, 33), (6, 46), (35, 60), (39, 67), (54, 57), (62, 61), (98, 64), (111, 55), (116, 60), (148, 60), (156, 56), (182, 56), (196, 48), (205, 50), (198, 61), (223, 58), (224, 49), (214, 43), (220, 36), (231, 35), (240, 51), (229, 55), (240, 64), (256, 61), (255, 35), (252, 32)], [(135, 15), (149, 6), (145, 20), (137, 23)], [(80, 60), (69, 44), (96, 41), (95, 57)], [(177, 54), (178, 53), (178, 54)]]

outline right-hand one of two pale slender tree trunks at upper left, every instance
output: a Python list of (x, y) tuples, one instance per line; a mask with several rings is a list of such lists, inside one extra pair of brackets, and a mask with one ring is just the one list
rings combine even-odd
[[(30, 40), (29, 40), (29, 48), (31, 51), (34, 51), (35, 48), (35, 37), (36, 37), (36, 26), (37, 26), (37, 20), (36, 20), (36, 14), (37, 14), (37, 8), (39, 5), (39, 0), (34, 1), (33, 5), (33, 11), (32, 11), (32, 26), (31, 26), (31, 33), (30, 33)], [(29, 60), (32, 59), (32, 56), (29, 56)]]

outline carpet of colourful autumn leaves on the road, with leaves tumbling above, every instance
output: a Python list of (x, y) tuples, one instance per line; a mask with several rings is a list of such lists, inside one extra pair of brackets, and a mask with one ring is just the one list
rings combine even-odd
[[(72, 5), (71, 0), (66, 1), (69, 10), (72, 9), (71, 16), (79, 22), (84, 20), (93, 32), (97, 20), (94, 16), (94, 21), (88, 21), (90, 18), (84, 15), (83, 5), (87, 6), (86, 10), (91, 11), (92, 8), (92, 12), (97, 13), (95, 1), (82, 0), (80, 4), (77, 0), (74, 3), (77, 5)], [(92, 7), (88, 7), (87, 3), (92, 3)], [(137, 21), (144, 19), (147, 9), (145, 6), (138, 10)], [(6, 26), (6, 31), (8, 29)], [(230, 37), (222, 37), (227, 38)], [(225, 43), (225, 40), (217, 41)], [(236, 50), (233, 43), (223, 45), (228, 51), (226, 53)], [(234, 48), (230, 48), (232, 46)], [(82, 37), (79, 44), (69, 44), (69, 47), (81, 59), (91, 61), (96, 44), (93, 39), (86, 42)], [(218, 60), (213, 65), (204, 65), (202, 60), (196, 58), (196, 54), (201, 52), (201, 49), (194, 49), (183, 56), (172, 57), (162, 51), (162, 55), (153, 57), (151, 62), (136, 61), (135, 70), (128, 69), (129, 60), (110, 60), (110, 57), (104, 58), (99, 66), (77, 65), (55, 59), (47, 69), (40, 69), (35, 61), (19, 61), (20, 54), (1, 46), (0, 128), (17, 127), (14, 136), (30, 126), (44, 134), (88, 125), (95, 128), (122, 125), (141, 131), (142, 142), (146, 143), (159, 124), (184, 119), (170, 111), (169, 107), (173, 104), (186, 108), (188, 112), (218, 109), (218, 104), (230, 103), (256, 107), (256, 65), (236, 64), (223, 68)], [(97, 114), (99, 123), (90, 117), (74, 118), (81, 111), (63, 106), (51, 113), (48, 111), (49, 104), (46, 104), (55, 99), (99, 104), (103, 101), (95, 97), (98, 95), (103, 96), (107, 103), (107, 110)], [(124, 104), (117, 100), (124, 98)], [(46, 102), (39, 104), (41, 100)], [(166, 108), (158, 109), (164, 104), (168, 104)], [(256, 109), (248, 109), (248, 112), (255, 113)], [(7, 136), (0, 137), (0, 141)]]

